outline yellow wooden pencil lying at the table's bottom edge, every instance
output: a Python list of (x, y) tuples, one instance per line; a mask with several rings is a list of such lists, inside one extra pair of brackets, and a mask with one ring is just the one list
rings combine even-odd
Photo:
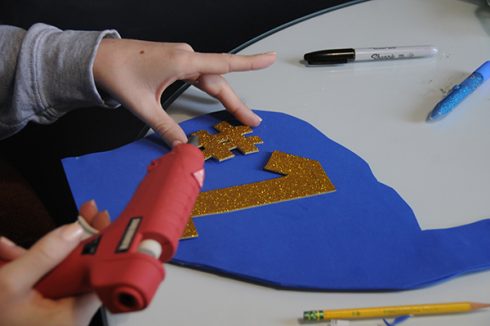
[(330, 320), (330, 319), (369, 319), (387, 318), (405, 315), (442, 315), (470, 312), (477, 309), (488, 308), (488, 303), (477, 302), (448, 302), (434, 304), (418, 304), (407, 306), (369, 307), (334, 310), (312, 310), (303, 313), (303, 319)]

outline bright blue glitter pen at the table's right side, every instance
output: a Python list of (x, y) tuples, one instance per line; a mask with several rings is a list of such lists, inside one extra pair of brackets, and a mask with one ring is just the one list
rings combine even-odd
[(427, 121), (436, 121), (444, 118), (468, 95), (473, 93), (490, 77), (490, 61), (482, 64), (461, 84), (454, 86), (449, 93), (429, 113)]

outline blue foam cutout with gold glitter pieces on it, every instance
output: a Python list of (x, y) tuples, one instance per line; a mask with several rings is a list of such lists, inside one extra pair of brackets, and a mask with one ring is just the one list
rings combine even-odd
[[(490, 220), (422, 231), (411, 208), (359, 156), (295, 117), (257, 111), (260, 152), (206, 162), (203, 191), (280, 177), (263, 170), (272, 151), (321, 162), (333, 193), (194, 218), (174, 264), (279, 288), (404, 290), (490, 267)], [(190, 134), (230, 120), (225, 112), (182, 123)], [(167, 152), (157, 136), (63, 160), (76, 203), (94, 198), (117, 217), (149, 162)]]

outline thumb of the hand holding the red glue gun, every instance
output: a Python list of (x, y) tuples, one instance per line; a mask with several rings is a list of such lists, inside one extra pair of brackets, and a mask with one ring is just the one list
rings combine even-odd
[(2, 267), (0, 273), (14, 292), (30, 291), (75, 249), (83, 235), (78, 222), (59, 227), (41, 238), (24, 255)]

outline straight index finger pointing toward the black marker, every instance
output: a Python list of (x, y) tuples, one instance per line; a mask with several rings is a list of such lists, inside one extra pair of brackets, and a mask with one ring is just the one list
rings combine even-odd
[(276, 60), (275, 52), (253, 55), (229, 53), (194, 53), (189, 68), (200, 74), (222, 75), (233, 71), (250, 71), (269, 67)]

